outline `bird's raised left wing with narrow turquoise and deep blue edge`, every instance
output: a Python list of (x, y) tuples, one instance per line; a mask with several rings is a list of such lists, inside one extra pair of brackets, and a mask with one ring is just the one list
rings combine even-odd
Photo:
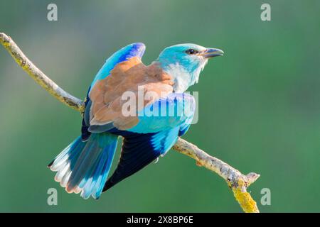
[[(88, 132), (87, 129), (90, 126), (92, 116), (95, 114), (92, 112), (97, 112), (98, 109), (103, 106), (103, 96), (110, 87), (115, 86), (115, 83), (112, 84), (112, 82), (110, 82), (110, 87), (107, 87), (104, 80), (106, 80), (107, 77), (110, 77), (114, 67), (117, 67), (117, 65), (122, 62), (131, 62), (131, 65), (141, 64), (141, 58), (142, 55), (144, 55), (145, 49), (146, 47), (143, 43), (133, 43), (131, 45), (127, 45), (121, 50), (118, 50), (117, 52), (114, 52), (114, 54), (106, 60), (105, 64), (95, 76), (95, 79), (92, 81), (87, 93), (87, 99), (85, 101), (86, 108), (82, 121), (82, 139), (86, 139), (90, 135), (90, 132)], [(118, 79), (121, 79), (121, 77)], [(114, 82), (114, 79), (111, 80)], [(115, 80), (117, 80), (117, 78), (115, 78)]]

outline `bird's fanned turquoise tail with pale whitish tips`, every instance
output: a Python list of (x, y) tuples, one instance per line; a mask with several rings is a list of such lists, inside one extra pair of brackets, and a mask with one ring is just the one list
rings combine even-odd
[(69, 193), (81, 192), (84, 199), (100, 197), (117, 148), (117, 135), (92, 133), (86, 141), (81, 136), (68, 145), (48, 165), (57, 172), (55, 181)]

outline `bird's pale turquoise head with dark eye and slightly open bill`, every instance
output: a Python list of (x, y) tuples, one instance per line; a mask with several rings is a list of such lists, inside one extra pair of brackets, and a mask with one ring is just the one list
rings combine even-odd
[(174, 77), (174, 91), (184, 92), (198, 82), (199, 74), (208, 59), (221, 55), (223, 55), (222, 50), (187, 43), (165, 48), (157, 62), (165, 72)]

